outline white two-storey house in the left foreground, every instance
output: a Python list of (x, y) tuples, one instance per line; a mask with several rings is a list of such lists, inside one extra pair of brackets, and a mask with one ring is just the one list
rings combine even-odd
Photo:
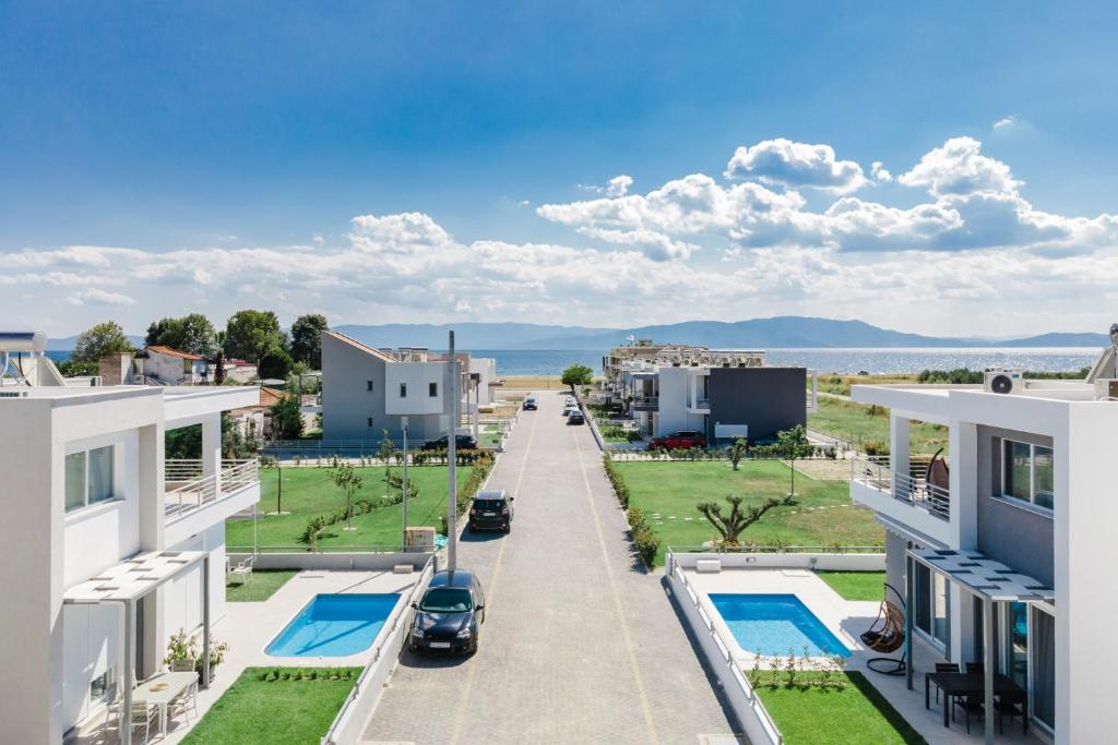
[[(259, 481), (221, 459), (220, 416), (258, 392), (35, 383), (0, 374), (0, 739), (60, 743), (224, 613), (225, 519)], [(191, 424), (201, 457), (165, 460)]]

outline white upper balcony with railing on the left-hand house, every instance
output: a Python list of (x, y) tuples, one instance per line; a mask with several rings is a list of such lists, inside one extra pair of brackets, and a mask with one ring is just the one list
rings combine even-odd
[(202, 475), (201, 460), (167, 460), (163, 509), (168, 545), (225, 520), (259, 502), (257, 462), (222, 460), (221, 470)]

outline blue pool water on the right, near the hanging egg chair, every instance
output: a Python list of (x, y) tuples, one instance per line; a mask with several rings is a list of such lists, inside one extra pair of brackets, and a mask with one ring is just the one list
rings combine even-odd
[(842, 655), (850, 650), (815, 618), (796, 595), (716, 593), (714, 603), (730, 633), (747, 652), (809, 656)]

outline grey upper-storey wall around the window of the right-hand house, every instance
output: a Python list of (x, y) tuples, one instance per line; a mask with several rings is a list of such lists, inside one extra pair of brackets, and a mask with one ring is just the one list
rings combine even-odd
[[(1044, 515), (1002, 499), (1002, 439), (1052, 447), (1052, 438), (979, 426), (977, 451), (978, 551), (1045, 583), (1055, 580), (1054, 523)], [(1064, 495), (1057, 495), (1057, 499)]]

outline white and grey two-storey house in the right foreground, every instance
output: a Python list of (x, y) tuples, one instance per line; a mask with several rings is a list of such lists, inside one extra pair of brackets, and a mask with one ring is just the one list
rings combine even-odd
[[(887, 531), (908, 643), (984, 662), (987, 711), (992, 677), (1011, 678), (1027, 691), (1032, 725), (1057, 743), (1115, 738), (1106, 700), (1118, 593), (1107, 555), (1118, 527), (1118, 386), (1101, 376), (1118, 376), (1114, 352), (1108, 373), (1103, 364), (1082, 382), (994, 371), (985, 385), (851, 391), (890, 410), (891, 456), (856, 461), (851, 496)], [(948, 430), (932, 462), (910, 456), (912, 421)], [(911, 687), (911, 666), (908, 675)]]

